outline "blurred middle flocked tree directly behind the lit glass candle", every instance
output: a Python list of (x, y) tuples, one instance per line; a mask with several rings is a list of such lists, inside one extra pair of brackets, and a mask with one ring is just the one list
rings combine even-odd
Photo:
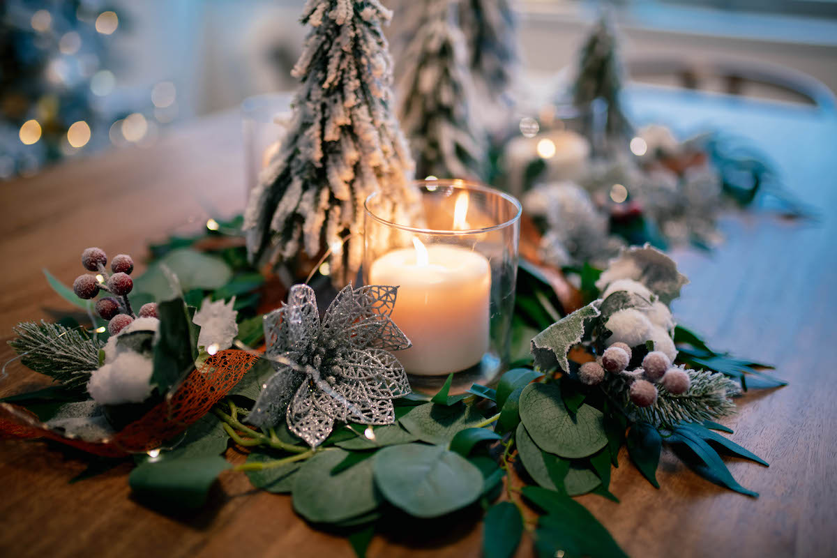
[(484, 134), (472, 116), (473, 78), (456, 2), (403, 4), (398, 55), (398, 114), (416, 160), (416, 176), (478, 179)]

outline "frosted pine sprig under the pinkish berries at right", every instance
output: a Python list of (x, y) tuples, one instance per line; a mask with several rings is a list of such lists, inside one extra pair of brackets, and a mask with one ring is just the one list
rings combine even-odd
[(741, 388), (727, 376), (711, 371), (686, 371), (691, 380), (689, 391), (673, 395), (657, 384), (657, 401), (650, 407), (637, 407), (630, 400), (629, 377), (608, 374), (602, 389), (628, 412), (635, 422), (649, 422), (656, 427), (674, 427), (680, 422), (703, 422), (726, 417), (736, 411), (730, 397)]

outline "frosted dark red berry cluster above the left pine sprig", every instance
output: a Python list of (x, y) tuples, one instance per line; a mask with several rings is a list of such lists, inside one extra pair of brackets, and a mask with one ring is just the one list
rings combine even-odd
[[(116, 335), (136, 319), (128, 294), (134, 289), (131, 272), (134, 260), (126, 253), (117, 255), (110, 261), (109, 275), (105, 269), (107, 255), (101, 248), (85, 248), (81, 253), (81, 264), (95, 274), (82, 274), (73, 282), (73, 292), (80, 299), (95, 299), (100, 291), (113, 296), (105, 296), (96, 301), (96, 313), (109, 320), (108, 331)], [(140, 309), (141, 318), (157, 318), (157, 303), (150, 302)]]

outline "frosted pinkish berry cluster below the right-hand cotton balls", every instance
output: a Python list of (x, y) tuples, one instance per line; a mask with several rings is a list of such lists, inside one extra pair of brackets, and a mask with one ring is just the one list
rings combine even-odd
[(631, 349), (624, 343), (614, 343), (602, 354), (601, 359), (584, 363), (578, 371), (579, 379), (588, 386), (604, 380), (605, 372), (621, 374), (630, 380), (630, 400), (637, 407), (650, 407), (657, 401), (657, 387), (660, 384), (672, 395), (683, 395), (689, 391), (691, 380), (686, 371), (671, 365), (669, 357), (662, 351), (651, 351), (642, 360), (642, 366), (627, 370)]

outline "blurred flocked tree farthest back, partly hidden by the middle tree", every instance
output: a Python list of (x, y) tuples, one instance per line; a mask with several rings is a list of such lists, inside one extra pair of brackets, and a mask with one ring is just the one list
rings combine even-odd
[(509, 105), (519, 62), (517, 18), (511, 0), (460, 0), (459, 15), (480, 96)]

